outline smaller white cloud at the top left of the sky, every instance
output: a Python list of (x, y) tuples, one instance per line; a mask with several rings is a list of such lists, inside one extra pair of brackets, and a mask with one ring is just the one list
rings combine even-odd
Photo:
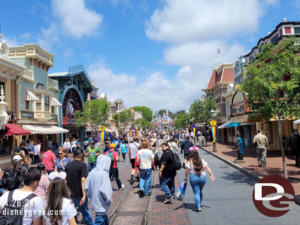
[(84, 0), (53, 0), (52, 7), (62, 30), (75, 38), (96, 35), (103, 21), (103, 15), (88, 9)]

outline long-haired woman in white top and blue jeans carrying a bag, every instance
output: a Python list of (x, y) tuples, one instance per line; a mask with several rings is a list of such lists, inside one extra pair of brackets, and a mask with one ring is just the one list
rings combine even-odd
[[(199, 148), (198, 148), (199, 149)], [(189, 180), (191, 183), (191, 187), (194, 192), (194, 199), (197, 205), (197, 213), (201, 213), (201, 201), (202, 201), (202, 189), (206, 183), (206, 173), (204, 168), (210, 173), (210, 179), (214, 181), (214, 176), (204, 159), (199, 157), (198, 151), (193, 147), (189, 149), (191, 151), (190, 159), (187, 161), (185, 165), (185, 178), (183, 180), (187, 181), (187, 176), (189, 176)]]

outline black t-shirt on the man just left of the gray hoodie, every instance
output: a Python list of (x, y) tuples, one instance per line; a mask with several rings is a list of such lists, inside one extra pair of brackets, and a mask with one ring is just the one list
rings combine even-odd
[(73, 160), (65, 166), (64, 171), (67, 173), (67, 186), (71, 191), (71, 198), (82, 198), (81, 178), (89, 175), (87, 165)]

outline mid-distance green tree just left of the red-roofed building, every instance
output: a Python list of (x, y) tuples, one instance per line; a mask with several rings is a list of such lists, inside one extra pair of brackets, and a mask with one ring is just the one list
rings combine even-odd
[(195, 118), (195, 122), (202, 124), (205, 128), (205, 140), (207, 140), (206, 130), (209, 127), (212, 120), (210, 111), (213, 110), (216, 113), (215, 120), (220, 117), (220, 112), (217, 107), (217, 103), (214, 99), (207, 99), (206, 101), (196, 100), (194, 101), (189, 110), (190, 117)]

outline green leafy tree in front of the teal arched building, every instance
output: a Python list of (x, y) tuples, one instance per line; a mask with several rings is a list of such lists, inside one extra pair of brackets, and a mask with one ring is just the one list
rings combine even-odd
[(84, 122), (90, 123), (91, 135), (98, 130), (98, 127), (108, 119), (108, 103), (104, 99), (86, 101), (82, 110), (74, 112), (77, 119), (77, 127), (81, 127)]

